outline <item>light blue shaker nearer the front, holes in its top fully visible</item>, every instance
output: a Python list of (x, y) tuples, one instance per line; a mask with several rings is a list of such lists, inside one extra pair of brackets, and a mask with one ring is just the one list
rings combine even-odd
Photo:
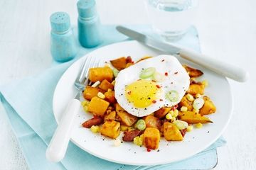
[(57, 62), (72, 60), (78, 53), (68, 13), (56, 12), (50, 16), (50, 52)]

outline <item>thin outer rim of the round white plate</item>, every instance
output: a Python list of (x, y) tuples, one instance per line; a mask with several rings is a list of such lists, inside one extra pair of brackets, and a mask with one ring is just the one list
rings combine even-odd
[[(129, 41), (122, 41), (122, 42), (115, 42), (115, 43), (112, 43), (110, 45), (105, 45), (103, 47), (99, 47), (95, 50), (92, 50), (91, 52), (88, 52), (87, 54), (83, 55), (82, 57), (78, 58), (78, 60), (76, 60), (75, 62), (73, 62), (72, 64), (70, 64), (70, 66), (68, 67), (68, 69), (65, 70), (65, 72), (63, 72), (63, 74), (61, 75), (60, 79), (58, 80), (58, 83), (56, 84), (55, 86), (55, 89), (54, 89), (54, 93), (53, 93), (53, 115), (54, 115), (54, 118), (55, 118), (55, 121), (57, 124), (59, 124), (59, 121), (58, 121), (58, 118), (56, 117), (57, 114), (56, 114), (56, 106), (54, 105), (54, 101), (55, 101), (55, 98), (57, 97), (56, 96), (56, 89), (58, 88), (59, 84), (60, 84), (60, 81), (63, 79), (63, 75), (66, 74), (66, 72), (69, 72), (69, 69), (70, 67), (73, 67), (74, 64), (78, 63), (78, 62), (81, 62), (82, 60), (85, 60), (85, 57), (91, 55), (92, 52), (95, 52), (96, 50), (100, 50), (102, 48), (107, 48), (109, 46), (112, 46), (112, 45), (117, 45), (117, 44), (125, 44), (125, 43), (134, 43), (134, 42), (137, 42), (136, 40), (129, 40)], [(140, 42), (137, 42), (139, 44), (142, 44)], [(143, 44), (142, 44), (143, 45)], [(151, 47), (149, 47), (151, 48)], [(99, 60), (100, 62), (100, 60)], [(193, 63), (195, 64), (195, 63)], [(197, 64), (198, 65), (198, 64)], [(203, 67), (204, 69), (207, 69), (205, 67)], [(218, 74), (220, 77), (223, 77), (222, 75)], [(230, 114), (228, 116), (228, 121), (225, 123), (225, 125), (223, 126), (223, 128), (220, 130), (220, 132), (218, 133), (218, 135), (215, 136), (213, 142), (209, 142), (208, 145), (206, 145), (206, 147), (202, 147), (201, 149), (198, 149), (198, 152), (196, 152), (196, 154), (200, 153), (203, 151), (203, 149), (206, 149), (207, 147), (209, 147), (210, 145), (212, 145), (216, 140), (218, 140), (218, 138), (223, 135), (223, 132), (225, 131), (225, 129), (228, 127), (229, 123), (230, 123), (230, 120), (233, 116), (233, 93), (232, 93), (232, 90), (231, 90), (231, 86), (230, 86), (230, 82), (228, 81), (228, 79), (226, 77), (223, 77), (223, 79), (226, 81), (227, 85), (228, 85), (228, 94), (230, 94)], [(82, 147), (82, 145), (80, 145), (78, 142), (75, 142), (75, 140), (73, 140), (72, 137), (70, 137), (70, 141), (73, 142), (75, 145), (77, 145), (78, 147), (80, 147), (80, 149), (84, 150), (85, 152), (89, 153), (89, 154), (92, 154), (94, 155), (95, 157), (98, 157), (100, 159), (105, 159), (109, 162), (114, 162), (114, 163), (118, 163), (118, 164), (129, 164), (129, 165), (134, 165), (134, 166), (151, 166), (151, 165), (160, 165), (160, 164), (174, 164), (176, 162), (179, 162), (179, 161), (182, 161), (182, 160), (186, 160), (186, 159), (189, 159), (191, 157), (193, 157), (194, 155), (196, 155), (195, 153), (193, 154), (188, 154), (186, 157), (183, 157), (183, 158), (180, 158), (180, 159), (175, 159), (174, 161), (158, 161), (158, 162), (154, 162), (154, 164), (144, 164), (144, 163), (132, 163), (132, 162), (122, 162), (122, 161), (117, 161), (117, 160), (114, 160), (114, 159), (110, 159), (108, 157), (102, 157), (100, 154), (97, 154), (95, 152), (91, 152), (90, 149), (86, 149), (85, 147)]]

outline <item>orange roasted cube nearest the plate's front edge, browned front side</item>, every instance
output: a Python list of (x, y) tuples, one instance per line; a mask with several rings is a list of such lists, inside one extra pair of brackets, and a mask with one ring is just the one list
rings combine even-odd
[(143, 134), (143, 144), (146, 148), (157, 149), (160, 142), (160, 132), (156, 128), (146, 128)]

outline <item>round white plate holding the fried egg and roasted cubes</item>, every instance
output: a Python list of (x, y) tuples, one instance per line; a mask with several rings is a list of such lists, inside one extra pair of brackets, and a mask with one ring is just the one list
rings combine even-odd
[[(90, 52), (85, 57), (88, 55), (97, 57), (101, 61), (100, 64), (104, 65), (105, 61), (122, 56), (131, 56), (136, 61), (145, 55), (156, 56), (160, 54), (162, 53), (146, 47), (137, 41), (128, 41), (107, 45)], [(85, 57), (72, 64), (58, 81), (53, 96), (53, 113), (57, 123), (68, 102), (76, 94), (73, 83)], [(75, 145), (96, 157), (110, 162), (133, 165), (156, 165), (176, 162), (191, 157), (213, 144), (228, 125), (232, 114), (233, 98), (230, 86), (225, 77), (221, 77), (195, 64), (184, 62), (183, 60), (180, 61), (201, 69), (204, 73), (201, 79), (208, 80), (209, 86), (206, 88), (205, 94), (210, 96), (217, 107), (215, 114), (208, 115), (213, 123), (203, 125), (201, 129), (194, 128), (192, 132), (187, 132), (182, 142), (167, 142), (163, 138), (159, 145), (159, 152), (154, 150), (146, 152), (145, 147), (137, 147), (137, 145), (129, 142), (123, 142), (120, 147), (114, 147), (114, 140), (102, 137), (101, 135), (95, 135), (90, 129), (81, 128), (81, 124), (85, 120), (92, 118), (92, 115), (85, 113), (81, 108), (75, 119), (75, 130), (71, 140)], [(122, 136), (120, 135), (120, 137)]]

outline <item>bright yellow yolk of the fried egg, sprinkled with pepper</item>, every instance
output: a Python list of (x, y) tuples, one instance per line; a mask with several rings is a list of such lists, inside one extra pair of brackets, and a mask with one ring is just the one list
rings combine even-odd
[(138, 80), (125, 89), (127, 100), (137, 108), (146, 108), (154, 103), (159, 89), (154, 81)]

